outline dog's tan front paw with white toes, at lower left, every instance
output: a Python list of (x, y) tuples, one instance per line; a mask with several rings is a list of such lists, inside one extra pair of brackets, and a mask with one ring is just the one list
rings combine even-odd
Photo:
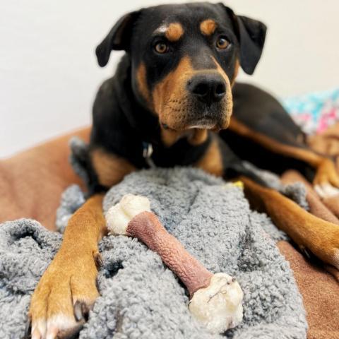
[(96, 277), (93, 253), (79, 256), (61, 250), (32, 295), (32, 339), (73, 338), (99, 296)]

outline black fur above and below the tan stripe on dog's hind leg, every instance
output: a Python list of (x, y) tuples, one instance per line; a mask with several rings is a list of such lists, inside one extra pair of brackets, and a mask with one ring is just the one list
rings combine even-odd
[[(233, 104), (233, 116), (252, 130), (284, 145), (307, 148), (304, 133), (272, 95), (253, 85), (236, 83), (233, 87)], [(314, 178), (314, 169), (301, 160), (272, 153), (230, 129), (221, 131), (220, 136), (238, 157), (258, 167), (277, 174), (293, 168), (310, 181)]]

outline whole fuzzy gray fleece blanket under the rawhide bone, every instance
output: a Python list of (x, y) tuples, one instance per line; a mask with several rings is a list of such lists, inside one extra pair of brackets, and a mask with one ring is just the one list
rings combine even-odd
[[(136, 239), (108, 236), (100, 242), (101, 297), (80, 338), (306, 338), (302, 297), (273, 241), (281, 233), (250, 210), (242, 189), (198, 169), (150, 169), (112, 187), (104, 209), (127, 193), (147, 196), (167, 230), (208, 270), (237, 277), (244, 319), (223, 335), (207, 333), (189, 313), (185, 287), (157, 254)], [(57, 225), (64, 227), (83, 201), (71, 186)], [(0, 338), (23, 337), (30, 295), (61, 238), (33, 220), (0, 226)]]

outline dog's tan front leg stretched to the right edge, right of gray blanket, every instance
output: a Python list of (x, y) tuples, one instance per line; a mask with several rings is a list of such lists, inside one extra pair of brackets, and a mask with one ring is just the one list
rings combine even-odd
[(246, 177), (241, 177), (241, 180), (252, 207), (266, 212), (296, 244), (339, 269), (338, 225), (311, 215), (278, 191), (260, 186)]

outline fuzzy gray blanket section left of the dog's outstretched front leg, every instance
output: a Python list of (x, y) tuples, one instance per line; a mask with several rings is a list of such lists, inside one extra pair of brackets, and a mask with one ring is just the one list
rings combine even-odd
[(19, 219), (0, 225), (0, 338), (23, 338), (30, 295), (54, 258), (62, 236), (39, 222)]

